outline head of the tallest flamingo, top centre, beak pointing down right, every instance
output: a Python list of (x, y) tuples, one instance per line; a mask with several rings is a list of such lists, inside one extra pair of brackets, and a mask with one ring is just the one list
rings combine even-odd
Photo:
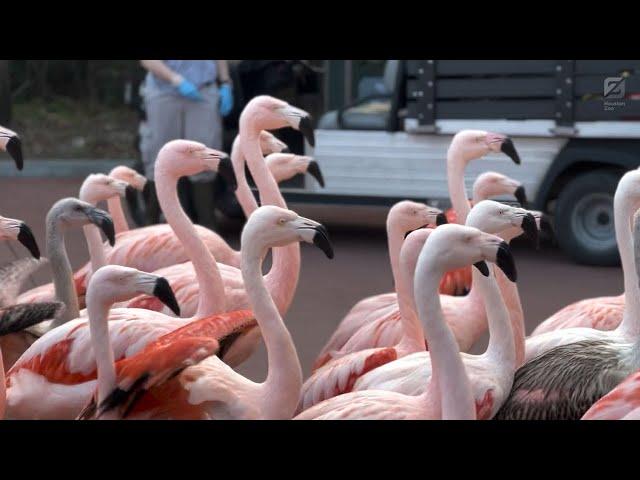
[(253, 97), (240, 114), (240, 131), (247, 132), (248, 135), (259, 134), (261, 130), (277, 130), (284, 127), (298, 130), (309, 145), (315, 146), (309, 113), (283, 100), (269, 95), (259, 95)]

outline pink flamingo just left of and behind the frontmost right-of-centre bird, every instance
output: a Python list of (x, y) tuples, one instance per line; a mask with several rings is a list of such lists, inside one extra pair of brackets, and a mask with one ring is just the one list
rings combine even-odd
[[(391, 274), (396, 292), (399, 291), (400, 248), (407, 233), (425, 225), (440, 225), (445, 221), (440, 209), (429, 207), (423, 203), (404, 200), (391, 207), (387, 214), (387, 242)], [(320, 352), (313, 369), (316, 370), (336, 356), (340, 356), (341, 348), (365, 325), (376, 318), (388, 315), (390, 311), (397, 312), (399, 305), (396, 292), (374, 295), (356, 303)]]

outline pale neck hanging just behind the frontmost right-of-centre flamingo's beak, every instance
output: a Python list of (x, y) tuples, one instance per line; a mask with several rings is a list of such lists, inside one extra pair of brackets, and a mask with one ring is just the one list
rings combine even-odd
[(511, 328), (511, 319), (505, 306), (498, 283), (496, 282), (495, 268), (491, 265), (490, 276), (485, 277), (477, 269), (473, 269), (473, 287), (477, 288), (484, 300), (489, 323), (489, 346), (485, 352), (500, 368), (515, 371), (516, 351)]

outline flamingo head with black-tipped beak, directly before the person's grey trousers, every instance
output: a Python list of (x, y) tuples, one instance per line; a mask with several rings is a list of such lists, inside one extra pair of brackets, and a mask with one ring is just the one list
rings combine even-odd
[(218, 174), (235, 190), (238, 186), (229, 156), (219, 150), (208, 148), (191, 140), (172, 140), (158, 152), (156, 159), (156, 181), (158, 175), (184, 177), (205, 170)]

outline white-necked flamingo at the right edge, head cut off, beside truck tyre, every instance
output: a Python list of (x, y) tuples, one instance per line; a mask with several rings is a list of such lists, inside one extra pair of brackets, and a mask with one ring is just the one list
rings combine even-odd
[[(640, 170), (631, 170), (620, 179), (613, 199), (616, 240), (624, 275), (622, 298), (597, 297), (582, 300), (560, 310), (551, 317), (549, 323), (544, 323), (551, 327), (562, 325), (563, 328), (540, 332), (527, 338), (527, 361), (553, 347), (580, 340), (616, 339), (626, 343), (633, 342), (640, 336), (639, 277), (634, 268), (637, 260), (634, 259), (631, 230), (634, 213), (640, 207), (638, 192)], [(570, 327), (574, 323), (579, 326)]]

